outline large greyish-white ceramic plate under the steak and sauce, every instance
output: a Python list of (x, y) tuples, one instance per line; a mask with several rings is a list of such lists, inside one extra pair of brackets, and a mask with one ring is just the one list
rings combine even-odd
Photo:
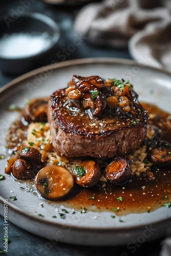
[[(56, 63), (20, 76), (1, 90), (0, 154), (6, 154), (5, 136), (10, 124), (18, 116), (16, 112), (7, 111), (9, 104), (17, 104), (23, 108), (25, 99), (49, 96), (55, 90), (66, 87), (73, 74), (99, 75), (103, 78), (123, 77), (134, 84), (140, 101), (157, 104), (161, 109), (171, 112), (170, 73), (146, 67), (143, 63), (113, 58)], [(6, 161), (4, 159), (0, 162), (1, 174), (4, 174)], [(8, 199), (9, 221), (50, 241), (99, 246), (129, 244), (133, 239), (143, 243), (163, 236), (171, 225), (171, 208), (166, 207), (149, 213), (123, 216), (124, 222), (119, 222), (119, 217), (112, 219), (110, 212), (88, 211), (80, 214), (76, 211), (73, 215), (71, 209), (68, 209), (70, 213), (66, 219), (54, 219), (52, 216), (57, 215), (60, 205), (42, 201), (28, 193), (27, 187), (22, 191), (21, 186), (26, 187), (8, 176), (0, 181), (1, 215), (4, 216), (4, 199)], [(17, 200), (10, 199), (11, 196), (16, 196)], [(38, 214), (44, 217), (38, 217)]]

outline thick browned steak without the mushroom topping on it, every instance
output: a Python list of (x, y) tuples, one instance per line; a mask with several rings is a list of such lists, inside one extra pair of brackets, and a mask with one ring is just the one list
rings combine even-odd
[[(106, 107), (99, 116), (92, 115), (90, 108), (78, 108), (66, 90), (54, 92), (48, 104), (52, 145), (57, 154), (112, 158), (140, 146), (146, 135), (148, 115), (133, 90), (129, 89), (129, 97), (134, 113), (125, 112), (120, 107), (115, 111)], [(102, 90), (105, 91), (105, 87)]]

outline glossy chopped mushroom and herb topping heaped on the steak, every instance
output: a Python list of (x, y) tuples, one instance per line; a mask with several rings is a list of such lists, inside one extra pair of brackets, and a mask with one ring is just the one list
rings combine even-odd
[(134, 116), (135, 106), (133, 106), (132, 93), (132, 84), (123, 79), (103, 81), (99, 76), (73, 75), (66, 89), (68, 96), (66, 105), (69, 108), (90, 108), (93, 116), (99, 116), (105, 108), (118, 113), (122, 109), (125, 113)]

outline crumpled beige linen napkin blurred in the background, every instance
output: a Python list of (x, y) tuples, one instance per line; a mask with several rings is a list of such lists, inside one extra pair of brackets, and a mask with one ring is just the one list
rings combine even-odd
[(97, 46), (129, 46), (132, 57), (171, 71), (171, 1), (104, 0), (84, 6), (75, 30)]

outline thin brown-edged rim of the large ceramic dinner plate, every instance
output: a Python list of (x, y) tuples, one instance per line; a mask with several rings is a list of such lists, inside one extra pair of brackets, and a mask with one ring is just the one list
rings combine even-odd
[[(38, 69), (32, 70), (26, 74), (23, 74), (15, 79), (13, 79), (12, 81), (10, 81), (9, 83), (7, 83), (5, 86), (3, 86), (3, 88), (0, 89), (0, 97), (3, 97), (4, 94), (8, 93), (8, 91), (14, 86), (16, 85), (15, 88), (17, 88), (18, 86), (20, 86), (20, 82), (23, 82), (25, 80), (27, 80), (28, 78), (31, 78), (37, 74), (40, 73), (44, 73), (46, 71), (49, 70), (58, 70), (60, 68), (65, 68), (65, 67), (70, 67), (70, 66), (74, 66), (74, 65), (88, 65), (88, 64), (92, 64), (92, 63), (115, 63), (115, 64), (123, 64), (123, 65), (139, 65), (139, 63), (137, 61), (134, 61), (132, 59), (124, 59), (124, 58), (113, 58), (113, 57), (94, 57), (94, 58), (81, 58), (81, 59), (72, 59), (72, 60), (67, 60), (67, 61), (62, 61), (62, 62), (56, 62), (56, 63), (52, 63), (50, 65), (47, 66), (43, 66), (40, 67)], [(140, 65), (139, 65), (140, 66)], [(145, 65), (143, 66), (147, 69), (151, 69), (154, 71), (159, 71), (161, 73), (164, 73), (166, 75), (171, 76), (171, 72), (164, 70), (162, 68), (156, 68), (156, 67), (152, 67), (149, 65)], [(4, 198), (0, 195), (0, 203), (4, 204)], [(16, 206), (15, 204), (8, 202), (8, 206), (10, 208), (10, 210), (13, 210), (14, 212), (16, 212), (17, 214), (22, 214), (25, 218), (29, 218), (31, 220), (34, 220), (36, 222), (39, 223), (46, 223), (48, 225), (53, 225), (55, 227), (60, 227), (60, 228), (65, 228), (68, 226), (71, 226), (72, 229), (74, 230), (79, 230), (79, 231), (91, 231), (91, 232), (96, 232), (98, 230), (101, 230), (101, 232), (118, 232), (118, 231), (134, 231), (140, 228), (144, 228), (145, 225), (158, 225), (158, 224), (164, 224), (165, 222), (171, 220), (171, 217), (166, 217), (163, 220), (158, 220), (158, 221), (154, 221), (154, 222), (146, 222), (145, 224), (140, 224), (140, 225), (135, 225), (135, 226), (126, 226), (126, 227), (86, 227), (86, 226), (76, 226), (76, 225), (72, 225), (70, 223), (56, 223), (50, 220), (46, 220), (46, 219), (40, 219), (37, 216), (33, 216), (31, 214), (29, 214), (26, 211), (23, 211), (22, 209), (20, 209), (18, 206)]]

